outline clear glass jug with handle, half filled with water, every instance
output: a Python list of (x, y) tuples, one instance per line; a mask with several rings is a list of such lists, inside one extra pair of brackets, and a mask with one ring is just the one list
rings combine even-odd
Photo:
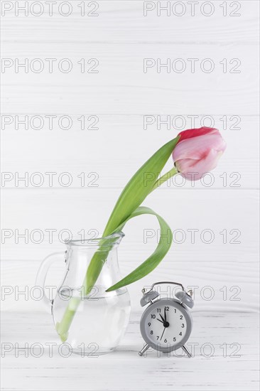
[[(44, 291), (45, 277), (53, 262), (65, 259), (66, 272), (55, 298), (43, 296), (51, 309), (56, 331), (73, 353), (100, 355), (119, 345), (129, 323), (130, 299), (126, 287), (107, 292), (121, 279), (117, 247), (124, 234), (92, 240), (68, 240), (67, 251), (45, 258), (40, 265), (36, 286)], [(99, 274), (86, 291), (86, 272), (99, 262)]]

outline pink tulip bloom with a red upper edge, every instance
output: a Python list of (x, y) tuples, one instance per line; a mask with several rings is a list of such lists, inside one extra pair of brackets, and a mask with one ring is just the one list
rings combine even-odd
[(190, 181), (197, 181), (215, 168), (226, 149), (217, 129), (188, 129), (178, 136), (180, 139), (173, 150), (173, 161), (181, 175)]

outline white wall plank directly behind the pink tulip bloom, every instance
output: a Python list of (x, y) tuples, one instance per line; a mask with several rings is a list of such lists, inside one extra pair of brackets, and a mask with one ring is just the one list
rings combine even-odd
[[(151, 117), (146, 119), (145, 115), (98, 114), (98, 129), (81, 131), (78, 120), (80, 114), (67, 114), (72, 121), (72, 128), (69, 130), (58, 127), (50, 130), (48, 118), (45, 117), (47, 114), (40, 115), (44, 122), (40, 131), (26, 131), (22, 124), (18, 130), (14, 129), (18, 119), (24, 119), (24, 114), (13, 114), (13, 123), (6, 124), (3, 129), (2, 141), (5, 147), (1, 164), (4, 188), (65, 188), (67, 182), (72, 181), (70, 188), (98, 186), (120, 190), (159, 146), (183, 129), (201, 127), (204, 124), (220, 129), (227, 142), (227, 150), (217, 168), (205, 178), (205, 182), (184, 183), (179, 176), (169, 181), (167, 186), (163, 185), (163, 188), (192, 189), (194, 185), (195, 188), (204, 188), (207, 191), (208, 188), (239, 190), (259, 186), (259, 119), (256, 116), (207, 114), (206, 117), (206, 114), (200, 114), (192, 119), (187, 114), (171, 111), (161, 116), (158, 112), (150, 113)], [(56, 115), (57, 125), (61, 115)], [(92, 119), (87, 121), (89, 115), (91, 114), (85, 114), (86, 126), (93, 123)], [(167, 129), (167, 124), (161, 124), (161, 129), (158, 129), (160, 121), (167, 118), (170, 121), (170, 129)], [(145, 121), (153, 121), (153, 124), (146, 125), (145, 129)], [(174, 130), (175, 124), (178, 129)], [(234, 126), (235, 124), (237, 126)], [(166, 167), (170, 169), (171, 165), (172, 160), (169, 159)], [(34, 176), (37, 172), (40, 176)], [(53, 181), (48, 172), (55, 173)], [(66, 172), (70, 178), (63, 176)], [(18, 178), (24, 178), (26, 175), (27, 182), (18, 181)]]

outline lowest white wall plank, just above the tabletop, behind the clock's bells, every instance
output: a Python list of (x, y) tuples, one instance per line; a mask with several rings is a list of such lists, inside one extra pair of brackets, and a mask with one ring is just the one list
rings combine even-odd
[[(119, 252), (121, 275), (129, 274), (139, 266), (141, 255), (133, 256)], [(140, 260), (139, 260), (140, 259)], [(2, 260), (2, 311), (45, 311), (38, 297), (33, 299), (33, 286), (40, 262), (38, 260)], [(55, 262), (50, 269), (46, 286), (53, 286), (53, 299), (65, 274), (65, 264)], [(227, 260), (226, 262), (207, 262), (186, 260), (177, 257), (164, 259), (151, 274), (128, 286), (133, 311), (140, 310), (141, 289), (158, 281), (181, 282), (186, 289), (193, 289), (194, 311), (259, 311), (259, 264), (244, 264)], [(82, 276), (82, 279), (84, 276)], [(26, 292), (21, 293), (19, 292)], [(161, 289), (163, 293), (163, 289)], [(167, 290), (166, 290), (167, 292)], [(37, 292), (36, 292), (37, 294)]]

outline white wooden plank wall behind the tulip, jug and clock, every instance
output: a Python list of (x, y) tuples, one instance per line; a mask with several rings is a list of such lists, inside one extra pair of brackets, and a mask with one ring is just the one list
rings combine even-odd
[[(21, 6), (24, 1), (9, 3), (15, 7), (15, 3)], [(143, 16), (143, 1), (102, 0), (97, 1), (98, 16), (80, 16), (80, 1), (74, 0), (70, 1), (72, 14), (67, 17), (61, 16), (56, 6), (53, 16), (49, 16), (45, 2), (41, 3), (41, 16), (30, 12), (23, 16), (22, 11), (15, 16), (15, 8), (2, 16), (2, 57), (14, 62), (18, 59), (20, 63), (28, 58), (29, 64), (40, 58), (45, 65), (41, 73), (30, 69), (25, 73), (22, 68), (16, 73), (14, 66), (2, 68), (2, 114), (13, 121), (15, 116), (23, 119), (25, 115), (44, 119), (40, 130), (30, 125), (26, 130), (22, 124), (16, 129), (15, 122), (5, 127), (2, 124), (2, 171), (10, 173), (10, 181), (2, 182), (2, 284), (21, 289), (33, 286), (40, 260), (51, 252), (63, 251), (58, 238), (62, 230), (70, 230), (73, 236), (81, 230), (102, 232), (126, 181), (156, 149), (178, 134), (180, 120), (184, 119), (187, 129), (191, 127), (189, 116), (198, 116), (195, 127), (200, 127), (204, 116), (210, 116), (205, 125), (210, 126), (213, 120), (227, 141), (227, 151), (214, 171), (214, 183), (195, 183), (194, 188), (190, 183), (182, 187), (170, 183), (145, 201), (144, 205), (166, 218), (173, 231), (179, 231), (175, 232), (176, 243), (158, 269), (129, 286), (132, 307), (139, 310), (143, 285), (172, 279), (185, 286), (198, 286), (195, 299), (199, 311), (256, 311), (259, 2), (224, 2), (227, 16), (223, 16), (223, 2), (211, 1), (215, 11), (212, 16), (204, 16), (200, 7), (205, 2), (200, 1), (191, 16), (188, 2), (183, 1), (183, 16), (157, 16), (156, 10)], [(90, 2), (85, 3), (88, 12), (93, 9)], [(240, 16), (231, 16), (231, 12)], [(57, 59), (53, 73), (46, 68), (46, 58)], [(63, 58), (73, 65), (70, 73), (57, 68)], [(87, 67), (94, 64), (88, 65), (87, 60), (96, 58), (99, 72), (81, 73), (77, 62), (82, 58)], [(162, 63), (167, 58), (181, 58), (187, 68), (183, 73), (167, 73), (165, 68), (157, 73), (154, 67), (143, 73), (144, 58), (161, 58)], [(198, 59), (194, 73), (190, 72), (190, 58)], [(215, 64), (212, 73), (200, 69), (205, 58)], [(226, 73), (220, 63), (223, 59), (227, 59)], [(230, 63), (233, 59), (239, 62)], [(240, 72), (230, 73), (238, 63), (236, 69)], [(70, 116), (71, 129), (60, 129), (58, 118), (50, 129), (45, 116), (52, 114), (58, 118)], [(81, 130), (78, 118), (83, 115), (96, 116), (98, 129)], [(161, 115), (161, 119), (169, 115), (175, 121), (175, 129), (167, 129), (166, 125), (157, 129), (156, 124), (143, 129), (146, 115)], [(42, 186), (36, 187), (30, 181), (26, 186), (21, 181), (15, 183), (14, 178), (25, 173), (33, 182), (32, 174), (36, 172), (44, 178)], [(53, 187), (48, 184), (48, 172), (57, 173)], [(72, 176), (71, 186), (58, 183), (57, 177), (64, 172)], [(78, 178), (82, 172), (85, 186)], [(7, 178), (8, 174), (4, 175)], [(119, 250), (123, 275), (137, 267), (156, 246), (156, 237), (143, 242), (143, 229), (157, 228), (156, 221), (148, 217), (126, 226)], [(188, 231), (192, 229), (198, 230), (195, 243)], [(17, 238), (25, 230), (28, 243)], [(33, 230), (44, 233), (38, 244), (37, 235), (30, 239)], [(46, 230), (56, 230), (52, 244)], [(186, 235), (183, 243), (180, 230)], [(213, 232), (211, 243), (205, 243), (209, 240), (207, 235), (200, 238), (204, 230)], [(8, 232), (11, 237), (5, 238)], [(227, 232), (227, 243), (223, 232)], [(62, 272), (63, 265), (57, 264), (50, 281), (59, 282)], [(212, 300), (205, 298), (210, 295), (205, 286), (214, 289)], [(225, 289), (227, 296), (223, 296)], [(16, 301), (13, 294), (2, 302), (2, 308), (41, 309), (37, 301)]]

